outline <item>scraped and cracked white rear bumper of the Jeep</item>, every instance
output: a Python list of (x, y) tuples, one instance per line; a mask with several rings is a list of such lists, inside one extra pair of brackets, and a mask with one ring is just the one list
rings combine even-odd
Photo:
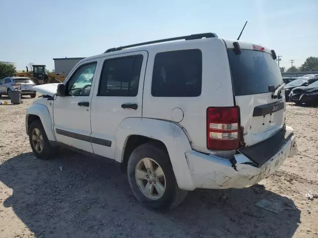
[[(259, 149), (256, 146), (255, 148)], [(272, 153), (273, 156), (261, 165), (255, 162), (257, 161), (255, 158), (248, 158), (243, 153), (235, 155), (237, 171), (228, 159), (217, 156), (189, 151), (186, 153), (186, 158), (196, 188), (242, 188), (267, 178), (284, 163), (287, 157), (297, 153), (293, 128), (286, 126), (285, 137), (275, 151), (276, 153)]]

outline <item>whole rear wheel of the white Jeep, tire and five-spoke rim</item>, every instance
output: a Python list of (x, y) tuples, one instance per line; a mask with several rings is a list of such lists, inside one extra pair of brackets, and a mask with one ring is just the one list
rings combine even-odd
[(128, 180), (144, 206), (167, 211), (179, 205), (187, 191), (178, 187), (167, 152), (153, 143), (137, 147), (128, 161)]

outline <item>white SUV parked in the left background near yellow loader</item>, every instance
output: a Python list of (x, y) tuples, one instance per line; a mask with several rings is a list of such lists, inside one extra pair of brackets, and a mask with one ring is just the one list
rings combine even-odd
[(7, 95), (10, 98), (10, 92), (13, 90), (21, 90), (21, 96), (30, 95), (35, 98), (36, 91), (32, 89), (35, 83), (26, 77), (7, 77), (0, 81), (0, 96)]

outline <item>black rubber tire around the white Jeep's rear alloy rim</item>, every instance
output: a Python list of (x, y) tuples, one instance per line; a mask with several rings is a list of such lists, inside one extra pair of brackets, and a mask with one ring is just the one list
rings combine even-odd
[[(160, 178), (155, 178), (155, 173), (152, 173), (154, 177), (149, 177), (148, 180), (137, 179), (136, 170), (137, 168), (139, 168), (140, 165), (144, 163), (144, 159), (151, 159), (151, 162), (154, 166), (153, 171), (156, 170), (157, 165), (161, 167), (163, 177), (161, 176)], [(146, 168), (143, 171), (146, 172)], [(150, 209), (157, 211), (170, 210), (173, 207), (179, 205), (184, 200), (187, 194), (186, 190), (181, 190), (178, 187), (178, 184), (174, 177), (172, 166), (170, 164), (169, 155), (164, 149), (160, 148), (158, 145), (154, 143), (146, 143), (140, 145), (132, 152), (128, 161), (127, 172), (128, 181), (135, 197), (143, 206), (146, 206)], [(146, 174), (148, 175), (147, 172)], [(148, 176), (150, 176), (150, 174)], [(154, 179), (153, 182), (149, 182), (149, 180), (151, 179)], [(155, 182), (156, 179), (157, 182)], [(161, 179), (161, 182), (159, 182), (159, 179)], [(162, 179), (164, 179), (164, 182)], [(140, 183), (141, 180), (143, 181), (142, 184)], [(153, 198), (149, 198), (142, 192), (142, 186), (150, 186), (149, 183), (152, 183), (153, 193), (155, 193)], [(162, 195), (160, 195), (157, 189), (155, 188), (157, 186), (160, 187), (163, 184), (165, 186), (165, 189)], [(158, 195), (156, 193), (158, 193)]]

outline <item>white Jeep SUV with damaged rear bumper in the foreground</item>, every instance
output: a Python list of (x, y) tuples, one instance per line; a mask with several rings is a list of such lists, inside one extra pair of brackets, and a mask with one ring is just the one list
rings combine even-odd
[(34, 89), (34, 154), (62, 145), (113, 159), (155, 210), (188, 190), (250, 186), (297, 151), (275, 52), (214, 33), (108, 49)]

